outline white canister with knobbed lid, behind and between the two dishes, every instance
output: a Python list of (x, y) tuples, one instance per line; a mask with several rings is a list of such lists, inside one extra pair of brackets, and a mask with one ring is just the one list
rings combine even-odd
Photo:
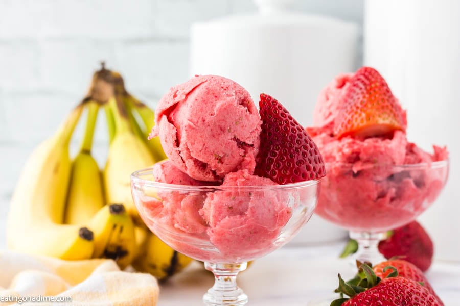
[[(356, 70), (359, 27), (330, 17), (288, 10), (290, 1), (257, 0), (254, 15), (195, 23), (191, 33), (193, 74), (218, 74), (277, 98), (304, 126), (312, 124), (318, 93), (338, 73)], [(318, 216), (292, 243), (343, 239), (345, 231)]]

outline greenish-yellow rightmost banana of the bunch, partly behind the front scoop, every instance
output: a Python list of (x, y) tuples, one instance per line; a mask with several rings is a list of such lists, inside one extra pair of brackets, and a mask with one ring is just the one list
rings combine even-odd
[[(152, 127), (155, 125), (155, 113), (147, 105), (137, 100), (131, 95), (126, 97), (126, 103), (133, 114), (137, 114), (141, 118), (143, 123), (142, 139), (147, 143), (153, 157), (156, 161), (161, 161), (167, 158), (165, 151), (163, 150), (162, 144), (160, 143), (159, 137), (154, 137), (148, 140), (148, 136), (152, 131)], [(135, 115), (134, 115), (135, 116)]]

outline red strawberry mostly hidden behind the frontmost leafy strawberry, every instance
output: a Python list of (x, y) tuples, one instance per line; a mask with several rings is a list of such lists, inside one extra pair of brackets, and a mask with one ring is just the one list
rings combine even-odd
[(412, 279), (412, 281), (416, 281), (418, 283), (422, 283), (423, 286), (426, 287), (426, 289), (428, 289), (428, 291), (436, 297), (438, 302), (441, 305), (443, 305), (443, 302), (438, 297), (438, 295), (436, 295), (430, 283), (428, 283), (428, 280), (426, 279), (425, 275), (423, 275), (423, 272), (419, 268), (417, 268), (417, 266), (405, 260), (395, 259), (381, 262), (380, 264), (374, 266), (373, 270), (378, 277), (386, 278), (390, 273), (393, 272), (393, 269), (387, 268), (385, 270), (385, 268), (388, 266), (396, 268), (396, 270), (398, 270), (398, 276)]

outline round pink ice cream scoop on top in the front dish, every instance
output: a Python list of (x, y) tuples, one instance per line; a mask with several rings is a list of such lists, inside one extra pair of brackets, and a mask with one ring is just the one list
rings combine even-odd
[(152, 135), (193, 179), (218, 181), (239, 169), (254, 171), (261, 120), (249, 93), (232, 80), (202, 75), (171, 88), (159, 101), (155, 123)]

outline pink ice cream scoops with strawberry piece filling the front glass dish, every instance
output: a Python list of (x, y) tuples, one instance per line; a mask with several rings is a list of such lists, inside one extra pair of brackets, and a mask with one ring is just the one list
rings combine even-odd
[[(158, 104), (151, 136), (169, 160), (152, 175), (166, 184), (144, 189), (136, 203), (147, 226), (177, 251), (249, 261), (287, 242), (312, 215), (323, 158), (277, 100), (262, 94), (259, 106), (215, 75), (173, 87)], [(285, 185), (309, 180), (316, 182)], [(297, 226), (286, 228), (291, 218)]]

